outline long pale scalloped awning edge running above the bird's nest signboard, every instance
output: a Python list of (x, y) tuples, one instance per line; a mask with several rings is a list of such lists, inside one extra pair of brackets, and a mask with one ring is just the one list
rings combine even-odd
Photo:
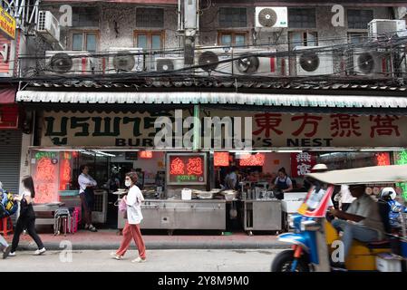
[(245, 92), (17, 92), (17, 102), (240, 104), (326, 108), (407, 108), (407, 97)]

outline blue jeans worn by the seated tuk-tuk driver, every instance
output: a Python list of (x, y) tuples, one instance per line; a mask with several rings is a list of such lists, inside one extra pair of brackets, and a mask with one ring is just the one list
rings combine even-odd
[(337, 231), (344, 232), (344, 235), (342, 236), (342, 242), (344, 243), (344, 258), (348, 256), (354, 239), (365, 243), (379, 240), (378, 232), (370, 227), (355, 225), (343, 219), (334, 219), (332, 221), (332, 226), (336, 228)]

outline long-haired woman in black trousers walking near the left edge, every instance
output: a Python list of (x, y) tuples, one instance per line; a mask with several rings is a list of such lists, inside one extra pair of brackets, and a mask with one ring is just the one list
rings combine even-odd
[(34, 182), (31, 176), (26, 176), (23, 179), (24, 191), (20, 197), (15, 197), (16, 201), (20, 202), (20, 216), (15, 226), (15, 236), (13, 237), (13, 243), (9, 256), (15, 256), (15, 250), (18, 247), (20, 241), (20, 235), (23, 233), (24, 228), (27, 229), (28, 235), (34, 239), (38, 249), (34, 252), (34, 255), (42, 255), (45, 253), (45, 248), (41, 238), (38, 237), (35, 231), (35, 213), (33, 208), (33, 198), (35, 198)]

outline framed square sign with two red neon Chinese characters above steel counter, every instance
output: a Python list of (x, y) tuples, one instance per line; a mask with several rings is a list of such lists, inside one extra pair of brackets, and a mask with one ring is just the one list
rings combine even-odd
[(207, 155), (205, 153), (168, 153), (167, 184), (206, 185)]

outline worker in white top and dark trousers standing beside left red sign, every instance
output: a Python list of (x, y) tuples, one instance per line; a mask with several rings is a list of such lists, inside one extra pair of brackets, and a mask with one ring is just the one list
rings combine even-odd
[(78, 178), (79, 183), (79, 195), (81, 196), (82, 208), (84, 211), (83, 219), (85, 223), (85, 229), (91, 232), (97, 232), (96, 227), (92, 225), (92, 209), (94, 204), (93, 188), (97, 186), (97, 182), (89, 175), (89, 167), (81, 165), (81, 175)]

